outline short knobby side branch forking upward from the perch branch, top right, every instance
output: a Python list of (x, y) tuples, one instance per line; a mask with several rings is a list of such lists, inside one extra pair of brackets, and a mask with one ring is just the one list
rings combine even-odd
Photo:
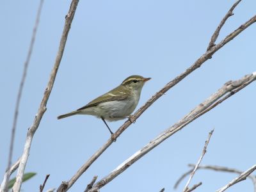
[(225, 22), (227, 21), (227, 19), (234, 15), (233, 13), (233, 10), (234, 8), (236, 8), (237, 4), (239, 4), (242, 0), (238, 0), (236, 1), (236, 3), (233, 4), (233, 6), (230, 8), (230, 10), (228, 10), (227, 14), (225, 15), (225, 17), (223, 17), (223, 19), (221, 20), (218, 28), (214, 31), (212, 37), (211, 37), (211, 41), (207, 47), (207, 51), (209, 51), (214, 45), (215, 45), (215, 42), (219, 36), (219, 33), (220, 33), (220, 29), (223, 27), (223, 25), (225, 24)]

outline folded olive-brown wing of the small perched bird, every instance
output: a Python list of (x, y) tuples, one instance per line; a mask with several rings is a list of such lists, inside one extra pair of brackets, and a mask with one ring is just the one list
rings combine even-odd
[(77, 109), (77, 111), (81, 111), (86, 108), (90, 108), (93, 106), (97, 106), (100, 103), (113, 101), (113, 100), (125, 100), (129, 97), (129, 94), (125, 94), (125, 92), (122, 92), (122, 88), (115, 88), (111, 90), (108, 93), (105, 93), (104, 95), (101, 95), (100, 97), (97, 97), (96, 99), (89, 102), (86, 106), (83, 106), (82, 108)]

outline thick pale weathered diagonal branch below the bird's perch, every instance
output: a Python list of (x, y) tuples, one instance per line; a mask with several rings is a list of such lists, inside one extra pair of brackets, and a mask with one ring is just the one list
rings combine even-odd
[[(216, 107), (218, 104), (223, 102), (223, 100), (228, 99), (228, 97), (234, 95), (234, 93), (239, 92), (239, 90), (243, 89), (248, 84), (252, 83), (256, 80), (256, 72), (253, 72), (253, 74), (244, 76), (243, 78), (237, 80), (237, 81), (228, 81), (224, 84), (218, 92), (214, 93), (206, 99), (204, 102), (199, 104), (195, 109), (193, 109), (188, 115), (184, 116), (179, 122), (172, 125), (169, 129), (166, 129), (163, 133), (159, 134), (154, 140), (150, 141), (145, 147), (141, 148), (133, 154), (131, 157), (129, 157), (127, 160), (125, 160), (122, 164), (120, 164), (113, 172), (109, 173), (106, 177), (102, 178), (93, 185), (93, 188), (90, 190), (93, 191), (95, 189), (100, 189), (111, 180), (115, 179), (120, 173), (124, 172), (131, 164), (135, 163), (143, 157), (145, 154), (147, 154), (150, 150), (152, 150), (154, 147), (162, 143), (164, 140), (175, 134), (175, 132), (180, 131), (183, 127), (188, 125), (189, 123), (193, 122), (196, 118), (199, 116), (204, 115), (207, 111), (210, 109)], [(230, 93), (228, 93), (230, 92)], [(223, 97), (225, 94), (227, 94), (225, 97)], [(221, 99), (220, 99), (221, 98)]]

